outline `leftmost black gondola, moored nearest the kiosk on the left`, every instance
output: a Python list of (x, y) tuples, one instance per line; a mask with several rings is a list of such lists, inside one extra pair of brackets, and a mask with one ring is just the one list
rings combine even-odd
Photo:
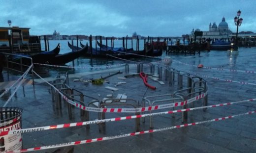
[[(57, 47), (52, 50), (52, 51), (44, 51), (44, 52), (40, 52), (34, 55), (27, 55), (27, 54), (16, 54), (16, 55), (11, 55), (9, 57), (9, 60), (16, 62), (16, 63), (20, 63), (20, 61), (22, 62), (22, 64), (24, 65), (31, 65), (31, 59), (32, 58), (32, 62), (33, 63), (41, 63), (41, 64), (45, 64), (48, 63), (49, 60), (53, 59), (56, 55), (59, 54), (61, 50), (61, 45), (58, 44)], [(28, 58), (26, 58), (28, 57)]]

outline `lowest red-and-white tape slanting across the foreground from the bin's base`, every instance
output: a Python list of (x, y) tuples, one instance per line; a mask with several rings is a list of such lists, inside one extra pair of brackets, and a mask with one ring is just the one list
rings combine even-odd
[(231, 119), (231, 118), (234, 118), (234, 117), (253, 114), (255, 112), (256, 111), (249, 111), (247, 113), (241, 113), (241, 114), (226, 116), (226, 117), (222, 117), (222, 118), (216, 118), (216, 119), (212, 119), (212, 120), (205, 120), (205, 121), (201, 121), (201, 122), (193, 122), (193, 123), (183, 124), (183, 125), (178, 125), (178, 126), (173, 126), (173, 127), (150, 129), (150, 130), (133, 132), (133, 133), (113, 135), (113, 136), (108, 136), (108, 137), (101, 137), (101, 138), (95, 138), (95, 139), (86, 139), (86, 140), (74, 141), (74, 142), (66, 142), (66, 143), (61, 143), (61, 144), (34, 147), (34, 148), (29, 148), (29, 149), (21, 149), (19, 151), (10, 151), (10, 152), (7, 152), (7, 153), (24, 153), (24, 152), (39, 151), (39, 150), (45, 150), (45, 149), (53, 149), (53, 148), (74, 146), (74, 145), (80, 145), (80, 144), (87, 144), (87, 143), (93, 143), (93, 142), (98, 142), (98, 141), (112, 140), (112, 139), (124, 138), (124, 137), (128, 137), (128, 136), (141, 135), (141, 134), (153, 133), (153, 132), (160, 132), (160, 131), (169, 130), (169, 129), (184, 128), (184, 127), (189, 127), (189, 126), (201, 125), (201, 124), (205, 124), (205, 123), (222, 121), (222, 120)]

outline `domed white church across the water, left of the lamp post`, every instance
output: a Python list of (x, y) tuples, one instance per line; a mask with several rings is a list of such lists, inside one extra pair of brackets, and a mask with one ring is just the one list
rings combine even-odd
[[(200, 29), (196, 29), (197, 31)], [(191, 34), (193, 36), (194, 29), (192, 30)], [(225, 22), (225, 18), (222, 18), (222, 22), (219, 24), (219, 26), (216, 25), (214, 22), (213, 24), (210, 23), (209, 30), (203, 31), (203, 37), (205, 38), (229, 38), (229, 35), (232, 34), (232, 31), (228, 28), (228, 24)]]

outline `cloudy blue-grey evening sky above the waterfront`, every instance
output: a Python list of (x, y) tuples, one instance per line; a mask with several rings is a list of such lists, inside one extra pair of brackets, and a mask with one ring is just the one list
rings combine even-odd
[(207, 31), (240, 9), (239, 31), (256, 32), (256, 0), (0, 0), (0, 26), (30, 27), (31, 35), (181, 36)]

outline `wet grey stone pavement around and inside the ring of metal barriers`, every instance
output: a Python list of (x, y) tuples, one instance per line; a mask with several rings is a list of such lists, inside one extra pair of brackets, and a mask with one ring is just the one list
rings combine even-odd
[[(173, 56), (173, 59), (192, 65), (202, 63), (203, 65), (214, 68), (255, 70), (254, 63), (250, 62), (246, 64), (246, 60), (253, 61), (252, 59), (255, 58), (255, 55), (239, 55), (236, 56), (236, 63), (234, 63), (234, 55), (233, 57), (227, 57), (226, 52), (223, 51), (210, 53), (202, 52), (200, 55), (202, 58), (198, 57), (198, 55), (189, 55), (182, 57)], [(209, 60), (210, 58), (216, 59), (214, 62), (211, 62)], [(228, 60), (229, 62), (226, 62), (226, 59), (228, 58), (231, 59)], [(178, 70), (208, 76), (208, 78), (203, 77), (208, 83), (208, 105), (256, 98), (255, 85), (246, 85), (211, 78), (216, 77), (256, 83), (255, 74), (198, 69), (177, 62), (173, 62), (171, 66)], [(123, 73), (107, 78), (106, 80), (109, 82), (104, 82), (102, 85), (73, 81), (74, 79), (79, 78), (87, 80), (91, 78), (105, 77), (109, 74), (116, 73), (119, 70)], [(136, 67), (129, 67), (129, 73), (136, 73), (136, 71)], [(145, 67), (144, 71), (149, 72), (149, 69)], [(156, 71), (157, 70), (155, 70), (155, 72)], [(101, 70), (94, 73), (69, 75), (69, 86), (82, 91), (85, 95), (93, 96), (99, 100), (102, 100), (109, 94), (112, 94), (113, 97), (116, 97), (118, 94), (126, 94), (127, 98), (139, 102), (146, 96), (170, 94), (177, 90), (177, 82), (175, 82), (174, 86), (170, 86), (164, 76), (161, 79), (165, 83), (164, 85), (161, 85), (158, 81), (152, 79), (148, 80), (149, 84), (157, 87), (156, 90), (151, 90), (146, 88), (138, 75), (121, 79), (125, 75), (128, 75), (128, 73), (126, 73), (124, 67), (111, 70), (107, 69), (104, 71)], [(6, 80), (6, 72), (3, 74), (3, 79)], [(52, 77), (45, 79), (51, 81)], [(34, 128), (85, 121), (85, 119), (80, 116), (80, 110), (75, 107), (72, 107), (72, 119), (69, 119), (67, 104), (65, 102), (62, 102), (61, 110), (56, 109), (56, 103), (52, 102), (51, 88), (41, 79), (35, 79), (34, 86), (28, 82), (30, 81), (26, 81), (26, 85), (19, 88), (17, 94), (15, 94), (11, 102), (7, 105), (20, 107), (24, 110), (22, 114), (22, 128)], [(126, 83), (115, 86), (117, 82)], [(4, 83), (8, 84), (6, 81)], [(106, 89), (106, 86), (118, 88), (118, 91)], [(12, 91), (10, 91), (7, 96), (3, 96), (0, 99), (1, 105), (8, 99), (8, 96), (11, 93)], [(85, 100), (85, 102), (89, 102), (89, 100)], [(202, 101), (194, 102), (194, 106), (202, 106)], [(153, 112), (168, 110), (169, 109), (161, 109)], [(208, 108), (205, 112), (201, 109), (193, 110), (188, 112), (188, 123), (211, 120), (254, 110), (256, 110), (255, 102), (243, 102), (228, 106)], [(134, 115), (134, 113), (108, 113), (106, 114), (106, 118), (128, 115)], [(90, 112), (90, 120), (93, 121), (97, 119), (98, 114), (96, 112)], [(154, 129), (177, 125), (181, 125), (181, 113), (176, 113), (175, 118), (171, 117), (171, 115), (154, 116)], [(145, 123), (140, 119), (140, 130), (144, 131), (149, 129), (149, 117), (145, 118)], [(83, 126), (24, 133), (22, 135), (23, 148), (27, 149), (48, 146), (131, 132), (135, 132), (134, 119), (108, 122), (106, 123), (105, 132), (99, 132), (98, 125), (90, 125), (90, 129), (86, 129), (86, 127)], [(74, 147), (74, 153), (254, 153), (255, 149), (256, 115), (252, 114), (224, 121), (189, 126), (186, 128), (169, 129), (149, 134), (76, 145)], [(35, 153), (53, 153), (55, 151), (58, 152), (57, 149), (48, 149), (36, 151)]]

